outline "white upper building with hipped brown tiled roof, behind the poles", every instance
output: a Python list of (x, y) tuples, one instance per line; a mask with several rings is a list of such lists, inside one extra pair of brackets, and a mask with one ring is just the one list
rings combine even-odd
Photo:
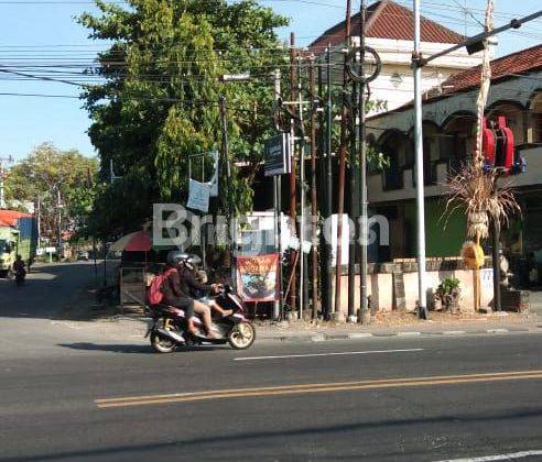
[[(382, 62), (379, 77), (370, 84), (371, 99), (383, 101), (387, 110), (399, 108), (410, 100), (414, 91), (412, 74), (414, 16), (410, 9), (391, 0), (371, 3), (367, 11), (366, 44), (376, 50)], [(321, 58), (327, 48), (335, 64), (333, 79), (343, 80), (342, 64), (345, 47), (345, 22), (328, 29), (310, 46), (310, 53)], [(359, 13), (351, 18), (354, 43), (359, 43)], [(432, 55), (464, 41), (464, 36), (427, 19), (421, 20), (421, 51)], [(481, 55), (468, 55), (462, 48), (442, 58), (435, 59), (423, 69), (423, 90), (441, 86), (451, 76), (481, 63)]]

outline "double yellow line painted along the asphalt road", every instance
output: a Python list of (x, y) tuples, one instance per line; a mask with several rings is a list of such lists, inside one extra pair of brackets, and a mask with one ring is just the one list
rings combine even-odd
[(332, 393), (395, 387), (421, 387), (435, 385), (476, 384), (501, 381), (542, 380), (542, 371), (512, 371), (467, 375), (437, 375), (429, 377), (379, 378), (356, 382), (334, 382), (315, 384), (292, 384), (252, 388), (210, 389), (206, 392), (173, 393), (167, 395), (128, 396), (96, 399), (99, 408), (160, 405), (209, 399), (231, 399), (240, 397), (265, 397), (310, 393)]

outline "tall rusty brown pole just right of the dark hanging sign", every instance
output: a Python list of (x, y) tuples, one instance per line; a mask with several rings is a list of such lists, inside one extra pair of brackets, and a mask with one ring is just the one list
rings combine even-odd
[[(292, 32), (290, 34), (290, 100), (295, 101), (295, 34)], [(290, 173), (290, 219), (292, 220), (293, 232), (296, 230), (296, 221), (297, 221), (297, 200), (296, 200), (296, 178), (295, 178), (295, 121), (291, 120), (290, 122), (290, 138), (291, 138), (291, 153), (292, 153), (292, 163), (291, 163), (291, 173)], [(301, 240), (300, 240), (301, 242)], [(290, 274), (293, 275), (291, 277), (290, 285), (290, 309), (291, 311), (296, 310), (296, 256), (295, 252), (292, 252), (290, 255)]]

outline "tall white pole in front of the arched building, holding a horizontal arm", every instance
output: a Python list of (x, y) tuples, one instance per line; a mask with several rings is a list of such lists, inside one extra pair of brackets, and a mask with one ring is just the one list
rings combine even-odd
[(422, 131), (422, 67), (420, 66), (420, 0), (414, 0), (414, 145), (416, 155), (416, 208), (418, 208), (418, 316), (427, 319), (425, 293), (425, 197), (423, 178), (423, 131)]

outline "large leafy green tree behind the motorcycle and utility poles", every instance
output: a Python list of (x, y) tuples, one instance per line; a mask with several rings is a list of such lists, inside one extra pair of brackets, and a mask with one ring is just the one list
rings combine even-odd
[[(272, 129), (269, 74), (286, 55), (274, 29), (286, 20), (254, 0), (96, 3), (100, 13), (85, 13), (79, 23), (91, 38), (112, 44), (89, 69), (106, 82), (84, 98), (104, 180), (94, 222), (98, 233), (110, 234), (141, 224), (152, 202), (186, 200), (188, 156), (219, 146), (220, 95), (229, 107), (231, 160), (257, 164)], [(239, 72), (250, 72), (251, 81), (219, 81)], [(121, 177), (115, 184), (108, 182), (111, 161)], [(251, 175), (236, 168), (232, 175), (231, 197), (220, 193), (223, 207), (231, 201), (242, 211), (251, 207)]]

